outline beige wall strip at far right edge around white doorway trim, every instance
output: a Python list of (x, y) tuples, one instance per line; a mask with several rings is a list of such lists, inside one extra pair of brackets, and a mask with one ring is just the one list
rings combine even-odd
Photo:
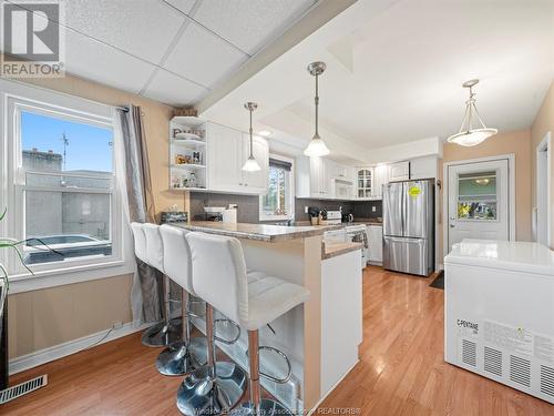
[[(536, 146), (547, 132), (554, 134), (554, 82), (552, 82), (544, 101), (536, 113), (536, 118), (531, 126), (531, 169), (532, 169), (532, 206), (536, 206)], [(554, 154), (554, 153), (552, 153)], [(554, 174), (554, 158), (551, 161), (552, 173)], [(554, 211), (554, 177), (551, 179), (551, 210)], [(552, 212), (554, 217), (554, 212)], [(554, 250), (554, 222), (551, 226), (551, 248)]]

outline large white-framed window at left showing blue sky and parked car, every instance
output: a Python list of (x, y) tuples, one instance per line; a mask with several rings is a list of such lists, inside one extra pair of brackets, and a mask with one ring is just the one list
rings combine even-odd
[[(2, 181), (0, 207), (7, 206), (8, 215), (0, 235), (25, 241), (21, 245), (24, 264), (37, 276), (70, 271), (73, 276), (100, 266), (105, 275), (93, 273), (91, 278), (127, 273), (126, 264), (125, 271), (107, 270), (123, 265), (127, 245), (112, 109), (6, 84), (7, 116), (1, 121), (7, 126), (2, 141), (8, 152), (0, 162), (7, 168), (2, 169), (7, 181)], [(0, 256), (16, 281), (32, 277), (14, 253)]]

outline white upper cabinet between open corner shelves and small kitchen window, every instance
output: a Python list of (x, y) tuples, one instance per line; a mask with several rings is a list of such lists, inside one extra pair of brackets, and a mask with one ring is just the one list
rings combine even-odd
[(253, 153), (261, 170), (245, 172), (249, 155), (249, 136), (225, 125), (208, 123), (207, 129), (208, 190), (216, 192), (264, 194), (267, 192), (269, 145), (254, 138)]

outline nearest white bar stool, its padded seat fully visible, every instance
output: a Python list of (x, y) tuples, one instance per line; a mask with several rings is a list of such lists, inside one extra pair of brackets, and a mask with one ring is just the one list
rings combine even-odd
[[(189, 233), (187, 241), (193, 258), (195, 292), (213, 307), (248, 329), (250, 400), (233, 413), (290, 415), (281, 404), (273, 399), (261, 399), (258, 331), (306, 302), (309, 291), (260, 272), (247, 272), (243, 247), (236, 239)], [(217, 258), (217, 262), (214, 262), (214, 258)], [(289, 372), (284, 379), (264, 375), (274, 382), (285, 383), (290, 377), (290, 364), (286, 355), (276, 348), (261, 348), (274, 349), (285, 357)], [(185, 378), (177, 395), (177, 403), (181, 400), (182, 405), (194, 408), (194, 400), (191, 398), (195, 395), (191, 395), (191, 392), (198, 388), (198, 383), (204, 383), (202, 375), (202, 372), (197, 371)]]

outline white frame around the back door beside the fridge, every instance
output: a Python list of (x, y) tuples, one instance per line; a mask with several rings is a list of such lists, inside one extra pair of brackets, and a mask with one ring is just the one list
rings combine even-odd
[(449, 215), (449, 168), (456, 166), (461, 164), (480, 163), (480, 162), (494, 162), (497, 160), (507, 160), (507, 214), (510, 216), (509, 221), (509, 241), (515, 241), (515, 154), (499, 154), (496, 156), (476, 158), (476, 159), (465, 159), (461, 161), (445, 162), (442, 166), (442, 183), (444, 187), (442, 196), (442, 254), (445, 256), (449, 246), (449, 227), (448, 227), (448, 215)]

